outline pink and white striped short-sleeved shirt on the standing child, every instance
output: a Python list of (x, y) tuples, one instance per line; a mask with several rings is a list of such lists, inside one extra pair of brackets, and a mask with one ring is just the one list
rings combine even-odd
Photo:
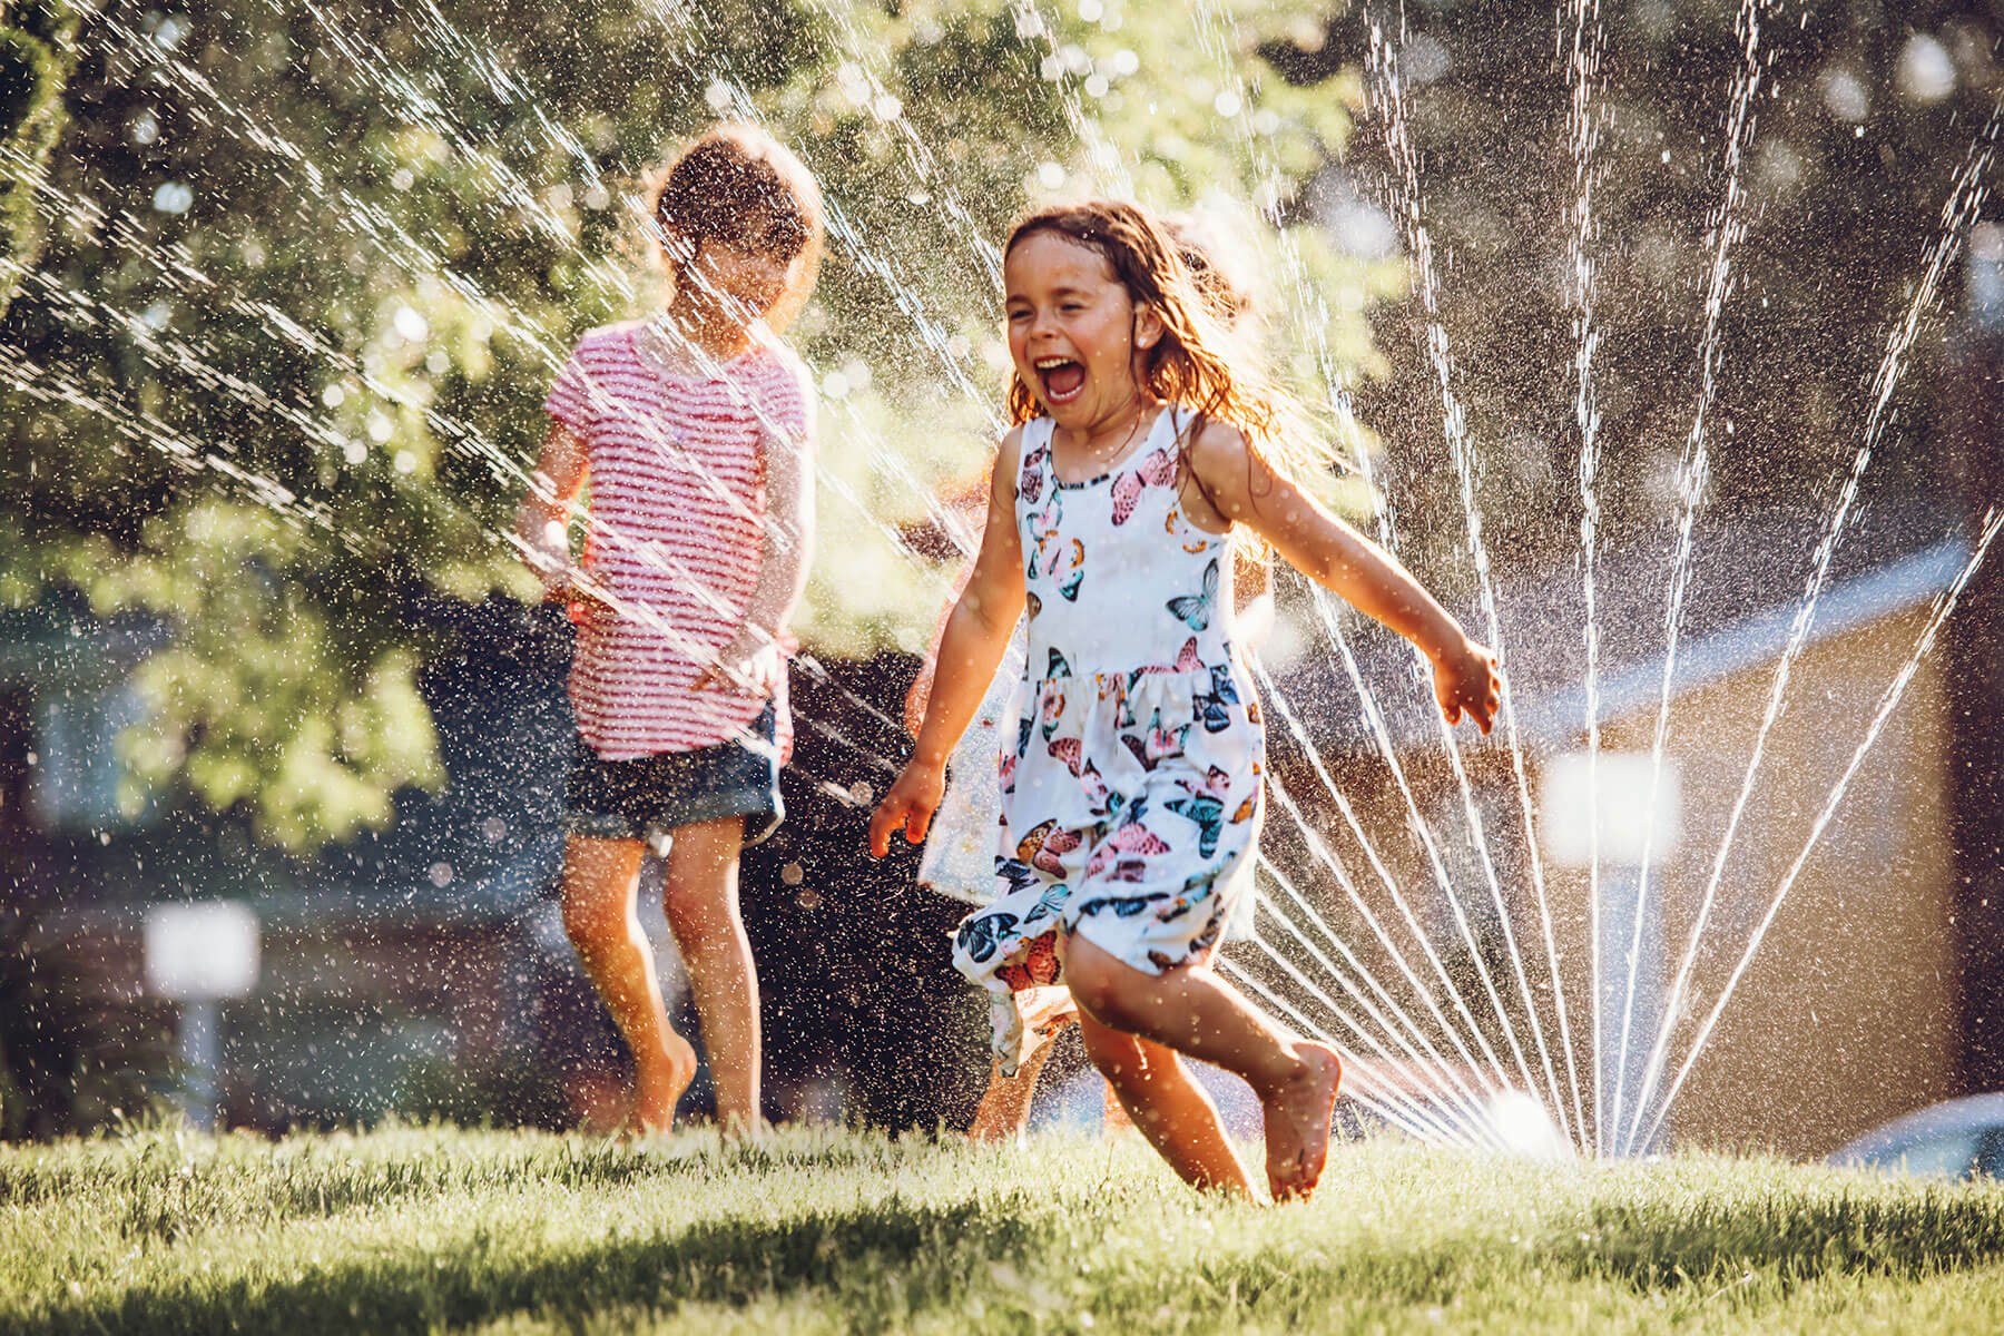
[[(571, 709), (607, 761), (729, 741), (766, 707), (691, 687), (737, 635), (758, 585), (768, 445), (810, 451), (804, 467), (814, 449), (814, 389), (792, 353), (754, 345), (713, 377), (675, 375), (639, 353), (637, 328), (587, 332), (543, 403), (585, 443), (585, 569), (639, 609), (573, 609)], [(786, 757), (794, 719), (784, 673), (774, 713)]]

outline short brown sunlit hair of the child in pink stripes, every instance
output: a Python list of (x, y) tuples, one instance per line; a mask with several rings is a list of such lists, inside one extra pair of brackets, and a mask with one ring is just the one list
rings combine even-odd
[(800, 274), (764, 312), (784, 330), (808, 304), (822, 268), (826, 208), (814, 174), (768, 130), (711, 126), (645, 184), (643, 230), (669, 282), (705, 240), (792, 264)]

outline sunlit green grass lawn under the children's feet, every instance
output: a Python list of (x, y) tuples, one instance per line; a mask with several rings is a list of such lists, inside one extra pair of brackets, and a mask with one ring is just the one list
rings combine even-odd
[(1339, 1146), (1309, 1206), (1132, 1136), (140, 1134), (0, 1148), (4, 1332), (1996, 1332), (2004, 1188)]

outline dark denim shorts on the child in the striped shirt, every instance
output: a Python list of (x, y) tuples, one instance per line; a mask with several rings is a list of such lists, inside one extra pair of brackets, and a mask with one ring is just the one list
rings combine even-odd
[(764, 745), (729, 739), (631, 761), (605, 761), (579, 737), (563, 785), (563, 829), (593, 839), (663, 843), (677, 825), (741, 815), (745, 843), (756, 845), (786, 815), (770, 703), (747, 731)]

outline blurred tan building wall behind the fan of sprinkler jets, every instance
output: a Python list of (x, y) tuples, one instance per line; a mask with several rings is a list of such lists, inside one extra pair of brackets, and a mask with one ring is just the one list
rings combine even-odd
[[(1675, 1078), (1725, 977), (1768, 913), (1788, 865), (1810, 837), (1816, 813), (1844, 767), (1892, 681), (1908, 659), (1926, 621), (1926, 603), (1880, 617), (1860, 629), (1812, 643), (1796, 661), (1788, 707), (1768, 739), (1768, 757), (1739, 823), (1733, 853), (1703, 933), (1691, 995), (1679, 1008), (1669, 1070), (1659, 1092)], [(1681, 767), (1683, 835), (1659, 851), (1649, 875), (1649, 901), (1661, 911), (1665, 957), (1663, 991), (1683, 955), (1697, 917), (1713, 851), (1723, 837), (1739, 793), (1762, 713), (1768, 705), (1774, 663), (1762, 661), (1671, 703), (1667, 755)], [(1788, 1156), (1824, 1156), (1844, 1140), (1888, 1118), (1940, 1098), (1966, 1094), (1962, 1072), (1962, 953), (1954, 933), (1956, 867), (1950, 845), (1950, 767), (1954, 735), (1946, 669), (1930, 657), (1886, 721), (1872, 753), (1852, 779), (1844, 803), (1816, 843), (1782, 903), (1760, 951), (1691, 1070), (1667, 1122), (1671, 1144), (1691, 1148), (1760, 1148)], [(1607, 751), (1647, 751), (1655, 727), (1653, 705), (1603, 723)], [(1585, 747), (1585, 737), (1573, 739)], [(1415, 805), (1435, 833), (1435, 855), (1463, 901), (1457, 923), (1439, 889), (1435, 861), (1415, 833), (1407, 799), (1379, 757), (1325, 757), (1351, 801), (1371, 843), (1367, 851), (1349, 831), (1325, 785), (1305, 761), (1277, 763), (1277, 783), (1303, 805), (1309, 825), (1335, 855), (1355, 889), (1347, 891), (1329, 863), (1317, 857), (1281, 803), (1269, 815), (1269, 851), (1295, 889), (1321, 915), (1335, 939), (1427, 1032), (1457, 1066), (1489, 1070), (1489, 1056), (1475, 1046), (1447, 1001), (1441, 975), (1463, 993), (1481, 1020), (1497, 1066), (1515, 1076), (1507, 1038), (1489, 1018), (1495, 1008), (1475, 969), (1481, 953), (1489, 981), (1517, 1024), (1517, 1038), (1537, 1082), (1543, 1056), (1525, 1026), (1515, 967), (1505, 949), (1501, 915), (1489, 891), (1489, 873), (1453, 833), (1461, 829), (1461, 793), (1439, 747), (1415, 747), (1401, 767)], [(1539, 791), (1539, 755), (1527, 755), (1531, 793)], [(1477, 807), (1489, 831), (1491, 867), (1523, 955), (1523, 979), (1543, 1016), (1547, 1054), (1557, 1082), (1571, 1100), (1565, 1052), (1559, 1046), (1551, 1001), (1551, 967), (1541, 945), (1539, 911), (1529, 861), (1523, 855), (1523, 817), (1515, 777), (1501, 749), (1471, 751), (1469, 769)], [(1405, 897), (1401, 909), (1385, 887), (1373, 857)], [(1609, 877), (1613, 881), (1613, 877)], [(1587, 873), (1545, 863), (1545, 897), (1559, 947), (1559, 977), (1573, 1038), (1581, 1106), (1591, 1120), (1591, 1006), (1589, 1006), (1589, 905)], [(1285, 893), (1273, 899), (1285, 901)], [(1287, 905), (1283, 905), (1287, 907)], [(1315, 939), (1311, 915), (1287, 907), (1303, 939)], [(1411, 919), (1407, 917), (1411, 915)], [(1375, 927), (1373, 927), (1375, 919)], [(1419, 923), (1435, 943), (1439, 965), (1415, 945), (1409, 923)], [(1261, 915), (1263, 937), (1353, 1016), (1361, 1001), (1319, 969), (1305, 945), (1281, 919)], [(1421, 991), (1405, 977), (1389, 937), (1413, 975), (1433, 991), (1443, 1014), (1463, 1026), (1465, 1060), (1429, 1020)], [(1471, 951), (1467, 941), (1475, 943)], [(1331, 941), (1317, 943), (1335, 959)], [(1265, 945), (1232, 947), (1263, 979), (1279, 979)], [(1285, 995), (1301, 997), (1301, 991)], [(1305, 1006), (1321, 1024), (1329, 1012)], [(1337, 1038), (1353, 1040), (1339, 1026)], [(1633, 1078), (1631, 1078), (1633, 1090)], [(1543, 1092), (1539, 1092), (1543, 1094)], [(1571, 1108), (1567, 1108), (1571, 1118)]]

